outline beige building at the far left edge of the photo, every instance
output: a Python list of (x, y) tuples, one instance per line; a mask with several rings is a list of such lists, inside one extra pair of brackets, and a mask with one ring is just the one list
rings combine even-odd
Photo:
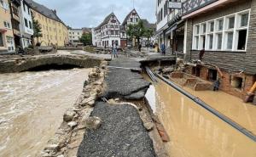
[(8, 0), (0, 0), (0, 53), (15, 50)]

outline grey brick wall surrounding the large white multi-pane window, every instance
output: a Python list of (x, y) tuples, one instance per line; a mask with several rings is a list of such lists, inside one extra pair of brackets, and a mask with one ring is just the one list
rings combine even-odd
[(216, 19), (224, 15), (233, 14), (251, 8), (250, 25), (247, 38), (247, 52), (206, 51), (203, 62), (217, 65), (226, 72), (245, 70), (247, 74), (256, 74), (256, 0), (236, 1), (216, 10), (208, 11), (194, 19), (187, 20), (188, 39), (186, 59), (199, 59), (199, 51), (192, 51), (193, 25)]

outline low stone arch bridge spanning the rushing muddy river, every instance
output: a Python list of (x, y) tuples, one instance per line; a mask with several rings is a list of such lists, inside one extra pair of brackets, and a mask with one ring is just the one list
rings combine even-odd
[(101, 59), (75, 55), (41, 55), (0, 59), (0, 73), (21, 72), (49, 64), (70, 64), (92, 68), (101, 64)]

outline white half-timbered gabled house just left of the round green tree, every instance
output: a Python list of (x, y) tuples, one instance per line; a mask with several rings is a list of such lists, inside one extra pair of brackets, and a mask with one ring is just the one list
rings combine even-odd
[(108, 14), (92, 33), (96, 47), (110, 48), (113, 42), (120, 45), (120, 22), (114, 13)]

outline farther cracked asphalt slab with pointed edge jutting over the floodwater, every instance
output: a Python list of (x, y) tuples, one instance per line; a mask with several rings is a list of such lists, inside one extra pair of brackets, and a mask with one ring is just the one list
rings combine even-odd
[[(133, 59), (115, 59), (110, 62), (111, 66), (140, 69), (140, 63)], [(106, 91), (102, 98), (126, 98), (141, 99), (150, 85), (143, 76), (131, 69), (111, 68), (105, 78)]]

